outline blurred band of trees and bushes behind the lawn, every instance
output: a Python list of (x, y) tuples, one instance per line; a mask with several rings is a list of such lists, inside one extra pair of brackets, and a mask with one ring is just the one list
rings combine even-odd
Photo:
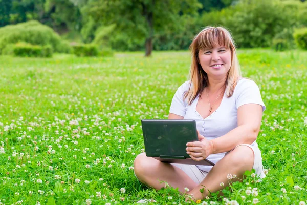
[(143, 51), (150, 56), (152, 50), (187, 50), (209, 25), (228, 28), (238, 48), (307, 49), (304, 0), (0, 0), (0, 5), (3, 55)]

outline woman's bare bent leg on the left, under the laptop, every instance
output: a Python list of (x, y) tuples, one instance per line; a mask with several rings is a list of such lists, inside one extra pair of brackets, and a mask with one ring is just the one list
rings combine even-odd
[(171, 187), (178, 187), (182, 193), (185, 192), (185, 187), (192, 190), (197, 186), (197, 183), (178, 167), (147, 157), (145, 153), (136, 157), (134, 171), (142, 183), (157, 190), (164, 187), (164, 183), (160, 181), (166, 181)]

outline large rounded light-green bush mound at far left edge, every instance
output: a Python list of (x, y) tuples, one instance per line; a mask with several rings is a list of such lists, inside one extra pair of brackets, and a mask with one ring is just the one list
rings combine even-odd
[(32, 45), (52, 46), (55, 52), (69, 53), (71, 47), (50, 27), (31, 20), (26, 23), (0, 28), (0, 54), (8, 44), (26, 42)]

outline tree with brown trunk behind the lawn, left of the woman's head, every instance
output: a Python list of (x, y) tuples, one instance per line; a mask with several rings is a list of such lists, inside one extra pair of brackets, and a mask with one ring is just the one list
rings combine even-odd
[(103, 25), (115, 24), (117, 33), (144, 39), (150, 56), (155, 31), (175, 29), (180, 15), (196, 14), (201, 7), (198, 0), (89, 0), (82, 11)]

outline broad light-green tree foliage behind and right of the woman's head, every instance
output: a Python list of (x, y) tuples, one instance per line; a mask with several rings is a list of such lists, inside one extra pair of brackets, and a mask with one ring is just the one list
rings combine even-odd
[(204, 13), (200, 24), (227, 27), (239, 47), (269, 47), (275, 35), (287, 36), (284, 28), (304, 24), (299, 17), (306, 12), (304, 5), (294, 0), (241, 0), (221, 11)]

